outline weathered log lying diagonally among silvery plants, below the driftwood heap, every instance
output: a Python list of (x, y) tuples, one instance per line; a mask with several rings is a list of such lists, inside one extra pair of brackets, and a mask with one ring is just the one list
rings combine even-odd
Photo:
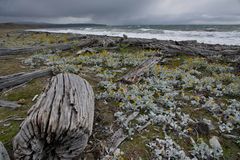
[(157, 64), (161, 58), (151, 58), (144, 61), (142, 64), (131, 70), (129, 73), (120, 78), (124, 83), (136, 83), (139, 81), (139, 77), (143, 75), (149, 68)]

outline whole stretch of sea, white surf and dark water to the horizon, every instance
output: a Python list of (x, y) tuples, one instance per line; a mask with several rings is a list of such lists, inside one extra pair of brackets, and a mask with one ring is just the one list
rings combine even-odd
[(240, 45), (240, 25), (84, 25), (74, 27), (34, 29), (52, 33), (156, 38), (159, 40), (197, 40), (200, 43)]

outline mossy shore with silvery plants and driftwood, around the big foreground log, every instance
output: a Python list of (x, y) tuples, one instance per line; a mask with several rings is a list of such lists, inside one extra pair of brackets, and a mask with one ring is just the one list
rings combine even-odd
[[(0, 86), (4, 76), (46, 68), (77, 74), (94, 89), (93, 132), (80, 158), (240, 158), (240, 46), (0, 32)], [(0, 141), (10, 157), (49, 78), (1, 88), (0, 100), (18, 105), (0, 106)]]

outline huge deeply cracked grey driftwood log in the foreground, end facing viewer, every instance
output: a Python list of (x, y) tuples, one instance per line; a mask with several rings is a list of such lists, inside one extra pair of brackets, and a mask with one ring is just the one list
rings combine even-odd
[(15, 159), (73, 159), (92, 133), (94, 93), (74, 74), (53, 77), (13, 141)]

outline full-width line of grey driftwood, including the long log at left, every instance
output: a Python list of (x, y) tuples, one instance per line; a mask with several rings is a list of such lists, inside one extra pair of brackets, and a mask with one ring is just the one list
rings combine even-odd
[[(49, 33), (50, 34), (50, 33)], [(189, 54), (204, 56), (207, 58), (218, 58), (227, 62), (239, 63), (240, 61), (240, 46), (235, 45), (219, 45), (219, 44), (204, 44), (197, 41), (172, 41), (172, 40), (157, 40), (157, 39), (140, 39), (127, 37), (108, 37), (98, 35), (73, 35), (68, 38), (69, 43), (54, 44), (49, 46), (40, 46), (32, 48), (16, 48), (6, 49), (0, 48), (0, 57), (6, 55), (16, 55), (21, 53), (32, 53), (35, 51), (51, 50), (52, 52), (61, 50), (71, 50), (73, 48), (93, 48), (93, 49), (114, 49), (119, 46), (130, 46), (141, 49), (151, 49), (161, 51), (164, 56), (176, 56), (177, 54)], [(71, 41), (78, 40), (78, 43)]]

